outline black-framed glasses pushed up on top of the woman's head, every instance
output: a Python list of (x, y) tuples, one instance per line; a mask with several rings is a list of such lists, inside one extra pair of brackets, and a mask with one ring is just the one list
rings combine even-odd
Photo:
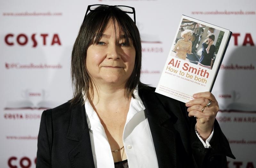
[[(104, 9), (97, 9), (99, 6), (104, 6), (106, 8)], [(94, 5), (88, 5), (87, 7), (87, 10), (86, 10), (86, 13), (85, 13), (85, 16), (84, 16), (84, 20), (86, 18), (86, 15), (87, 13), (90, 11), (105, 11), (105, 10), (111, 10), (113, 8), (118, 8), (120, 9), (121, 11), (125, 12), (125, 13), (131, 13), (133, 14), (133, 20), (134, 20), (134, 23), (136, 24), (136, 20), (135, 20), (135, 9), (133, 7), (130, 7), (130, 6), (124, 6), (124, 5), (104, 5), (104, 4), (94, 4)]]

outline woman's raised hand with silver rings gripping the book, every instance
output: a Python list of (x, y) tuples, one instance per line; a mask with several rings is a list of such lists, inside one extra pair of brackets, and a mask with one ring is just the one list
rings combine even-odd
[(219, 105), (211, 92), (193, 95), (194, 100), (186, 103), (188, 116), (196, 117), (196, 129), (205, 141), (212, 133), (213, 123), (219, 111)]

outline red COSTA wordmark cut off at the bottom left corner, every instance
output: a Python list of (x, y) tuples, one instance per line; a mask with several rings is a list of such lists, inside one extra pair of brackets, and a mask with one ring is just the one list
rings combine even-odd
[(35, 158), (35, 160), (32, 160), (32, 159), (28, 158), (27, 156), (24, 156), (20, 159), (18, 159), (15, 156), (12, 156), (8, 159), (8, 166), (10, 168), (17, 168), (18, 166), (20, 166), (22, 168), (30, 168), (33, 163), (36, 164), (36, 158)]

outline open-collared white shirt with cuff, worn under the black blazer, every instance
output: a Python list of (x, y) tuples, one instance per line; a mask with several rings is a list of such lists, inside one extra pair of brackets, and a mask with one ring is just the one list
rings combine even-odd
[[(141, 101), (138, 89), (134, 90), (123, 132), (124, 150), (129, 168), (158, 167), (156, 151), (150, 132), (145, 107)], [(85, 111), (89, 127), (92, 155), (95, 167), (114, 168), (114, 160), (104, 127), (88, 99), (85, 99)], [(213, 132), (212, 132), (213, 134)], [(212, 137), (209, 137), (211, 139)], [(197, 135), (198, 136), (198, 135)], [(206, 143), (198, 136), (205, 148), (209, 148), (209, 138)]]

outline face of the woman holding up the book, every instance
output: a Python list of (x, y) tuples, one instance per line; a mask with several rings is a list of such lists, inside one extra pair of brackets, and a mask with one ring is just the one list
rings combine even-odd
[(87, 71), (96, 84), (125, 85), (134, 68), (135, 54), (132, 41), (127, 45), (117, 25), (115, 33), (111, 20), (99, 41), (87, 50)]

